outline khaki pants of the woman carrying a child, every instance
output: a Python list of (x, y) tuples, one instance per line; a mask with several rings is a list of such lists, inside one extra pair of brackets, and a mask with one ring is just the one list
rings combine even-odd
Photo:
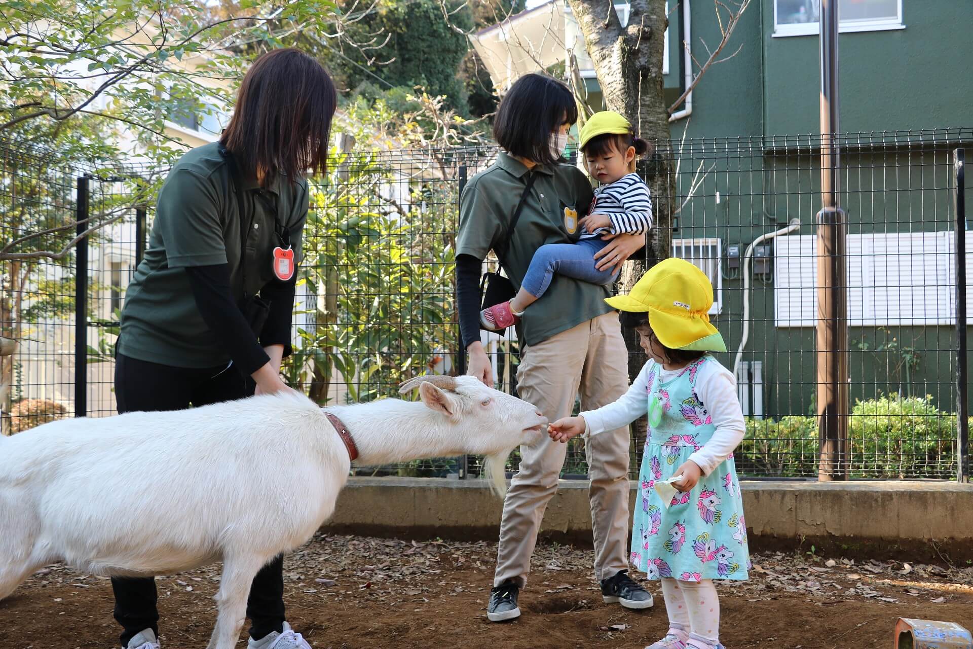
[[(629, 387), (628, 351), (617, 313), (606, 313), (525, 347), (517, 372), (521, 398), (554, 421), (571, 414), (575, 396), (582, 410), (617, 400)], [(558, 490), (567, 445), (544, 437), (521, 448), (520, 470), (503, 503), (493, 585), (507, 579), (523, 588), (544, 510)], [(595, 532), (595, 579), (628, 569), (629, 430), (605, 431), (585, 444)]]

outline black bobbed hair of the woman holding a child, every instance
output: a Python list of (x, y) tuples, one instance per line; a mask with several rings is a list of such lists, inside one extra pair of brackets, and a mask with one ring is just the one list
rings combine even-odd
[(558, 162), (551, 133), (578, 121), (578, 105), (567, 86), (541, 74), (514, 82), (493, 119), (493, 139), (511, 156), (540, 164)]

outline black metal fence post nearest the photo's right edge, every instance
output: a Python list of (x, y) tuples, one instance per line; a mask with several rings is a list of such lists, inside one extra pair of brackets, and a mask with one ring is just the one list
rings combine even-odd
[(966, 182), (962, 149), (953, 151), (956, 259), (956, 480), (969, 482), (969, 404), (966, 389)]

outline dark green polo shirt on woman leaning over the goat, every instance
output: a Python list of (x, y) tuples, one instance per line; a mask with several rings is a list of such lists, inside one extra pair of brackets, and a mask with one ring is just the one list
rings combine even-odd
[[(295, 264), (307, 216), (307, 182), (281, 175), (268, 190), (255, 178), (243, 180), (242, 209), (219, 143), (193, 149), (172, 167), (162, 189), (145, 257), (126, 290), (118, 351), (150, 363), (184, 368), (226, 365), (219, 333), (199, 314), (187, 267), (228, 264), (234, 301), (243, 296), (240, 214), (247, 226), (248, 295), (273, 278), (274, 202), (290, 232)], [(263, 192), (263, 197), (258, 196)]]

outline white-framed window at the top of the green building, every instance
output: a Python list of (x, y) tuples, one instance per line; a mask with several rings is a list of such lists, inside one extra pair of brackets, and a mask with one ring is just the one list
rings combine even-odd
[[(817, 34), (821, 0), (774, 0), (774, 35)], [(901, 29), (902, 0), (839, 0), (840, 31)]]

